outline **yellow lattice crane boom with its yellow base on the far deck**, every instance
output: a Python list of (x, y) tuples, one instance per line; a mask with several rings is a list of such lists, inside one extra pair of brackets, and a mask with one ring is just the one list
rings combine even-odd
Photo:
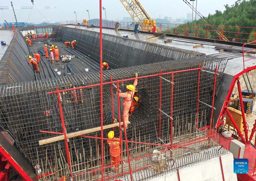
[[(153, 20), (150, 18), (147, 11), (140, 4), (139, 0), (120, 0), (120, 1), (135, 22), (143, 23), (143, 27), (139, 26), (141, 30), (152, 31), (154, 26), (156, 26), (155, 24), (156, 20)], [(160, 32), (157, 26), (156, 26), (156, 31)]]

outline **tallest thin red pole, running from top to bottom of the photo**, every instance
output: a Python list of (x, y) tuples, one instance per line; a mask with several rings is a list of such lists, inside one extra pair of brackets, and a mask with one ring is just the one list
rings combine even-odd
[(103, 78), (102, 78), (102, 3), (100, 0), (100, 136), (101, 136), (101, 180), (104, 180), (104, 150), (103, 150)]

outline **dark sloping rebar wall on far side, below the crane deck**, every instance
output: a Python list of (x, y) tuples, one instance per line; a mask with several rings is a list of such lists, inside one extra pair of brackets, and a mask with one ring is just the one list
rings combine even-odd
[[(98, 32), (62, 26), (55, 27), (53, 31), (57, 32), (55, 37), (62, 38), (63, 42), (76, 40), (76, 49), (100, 60)], [(110, 34), (102, 34), (102, 43), (103, 62), (107, 62), (111, 68), (123, 68), (205, 55), (196, 51), (127, 39)]]

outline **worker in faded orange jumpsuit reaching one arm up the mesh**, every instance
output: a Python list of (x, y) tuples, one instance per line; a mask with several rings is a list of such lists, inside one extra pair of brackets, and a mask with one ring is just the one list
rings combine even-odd
[[(135, 73), (135, 77), (138, 77), (138, 73)], [(125, 93), (119, 93), (120, 97), (124, 97), (124, 102), (123, 102), (123, 106), (124, 106), (124, 111), (123, 111), (123, 121), (124, 122), (128, 122), (129, 121), (129, 110), (130, 107), (132, 105), (132, 98), (134, 95), (134, 89), (138, 84), (138, 79), (134, 80), (133, 85), (127, 85), (126, 89), (127, 91)], [(116, 92), (116, 94), (118, 94), (118, 92)], [(125, 124), (125, 127), (127, 128), (127, 124)]]

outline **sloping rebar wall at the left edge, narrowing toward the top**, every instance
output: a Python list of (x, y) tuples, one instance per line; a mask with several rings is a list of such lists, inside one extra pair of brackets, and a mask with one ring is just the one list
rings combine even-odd
[(35, 80), (33, 67), (28, 67), (27, 44), (20, 31), (15, 31), (12, 41), (0, 61), (0, 84), (13, 84)]

